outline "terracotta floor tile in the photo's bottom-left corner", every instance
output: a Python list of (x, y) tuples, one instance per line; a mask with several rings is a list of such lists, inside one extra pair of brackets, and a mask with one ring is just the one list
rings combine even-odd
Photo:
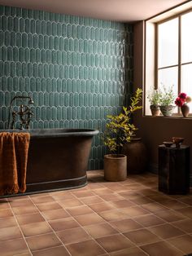
[(16, 255), (16, 254), (27, 254), (28, 246), (24, 239), (15, 239), (11, 241), (0, 242), (1, 255)]

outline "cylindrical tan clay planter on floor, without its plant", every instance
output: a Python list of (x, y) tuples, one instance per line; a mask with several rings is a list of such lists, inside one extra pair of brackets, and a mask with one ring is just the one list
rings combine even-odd
[(104, 156), (104, 178), (107, 181), (123, 181), (127, 178), (127, 157), (123, 154)]

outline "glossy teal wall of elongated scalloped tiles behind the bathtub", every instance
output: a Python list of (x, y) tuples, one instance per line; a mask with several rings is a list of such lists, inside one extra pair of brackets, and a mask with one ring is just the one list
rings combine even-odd
[[(107, 114), (129, 101), (132, 83), (131, 24), (0, 7), (0, 129), (7, 127), (11, 99), (30, 95), (31, 128), (102, 133)], [(94, 137), (90, 170), (103, 168), (105, 152)]]

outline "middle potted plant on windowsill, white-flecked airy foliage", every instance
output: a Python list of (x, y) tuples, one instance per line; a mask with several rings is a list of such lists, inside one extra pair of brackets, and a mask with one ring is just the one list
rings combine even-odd
[(172, 90), (172, 86), (168, 89), (163, 86), (163, 90), (160, 93), (160, 111), (164, 117), (171, 117), (175, 108), (174, 104), (175, 95)]

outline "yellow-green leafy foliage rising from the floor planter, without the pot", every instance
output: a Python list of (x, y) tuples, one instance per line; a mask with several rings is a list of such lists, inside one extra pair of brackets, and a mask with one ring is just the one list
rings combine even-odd
[(142, 108), (141, 105), (138, 105), (141, 99), (142, 90), (137, 88), (135, 95), (131, 97), (129, 108), (123, 107), (123, 113), (119, 115), (107, 116), (110, 121), (107, 123), (103, 139), (104, 144), (111, 152), (119, 153), (124, 143), (129, 143), (135, 130), (137, 130), (137, 127), (131, 123), (131, 117), (135, 111)]

